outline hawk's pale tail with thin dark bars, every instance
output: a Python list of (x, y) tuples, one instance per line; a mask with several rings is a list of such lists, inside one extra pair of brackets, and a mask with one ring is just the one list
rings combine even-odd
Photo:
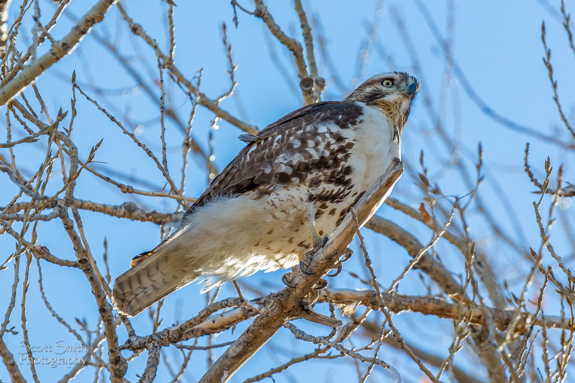
[(189, 261), (173, 247), (168, 244), (143, 254), (116, 278), (112, 300), (118, 312), (135, 316), (198, 278), (198, 273), (190, 272)]

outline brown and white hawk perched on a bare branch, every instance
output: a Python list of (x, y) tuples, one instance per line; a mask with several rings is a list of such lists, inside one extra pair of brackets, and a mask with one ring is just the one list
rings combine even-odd
[(173, 233), (116, 279), (114, 307), (133, 316), (198, 279), (205, 292), (298, 262), (307, 272), (302, 256), (323, 246), (392, 158), (401, 158), (417, 91), (408, 73), (381, 73), (343, 101), (304, 106), (255, 136), (242, 134), (246, 146)]

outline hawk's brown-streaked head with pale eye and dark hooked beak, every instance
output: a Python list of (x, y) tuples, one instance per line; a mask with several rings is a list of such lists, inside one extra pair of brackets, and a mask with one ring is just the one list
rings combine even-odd
[(401, 133), (417, 91), (419, 82), (408, 73), (379, 73), (361, 84), (345, 100), (377, 107)]

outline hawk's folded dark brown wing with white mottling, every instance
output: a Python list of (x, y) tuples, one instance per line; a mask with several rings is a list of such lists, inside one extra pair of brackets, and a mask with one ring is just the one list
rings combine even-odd
[[(218, 196), (232, 198), (249, 191), (262, 195), (271, 192), (278, 185), (287, 185), (304, 179), (310, 172), (321, 171), (329, 158), (313, 158), (306, 149), (318, 145), (317, 129), (322, 123), (332, 122), (342, 129), (357, 125), (363, 109), (356, 103), (325, 101), (301, 107), (266, 126), (257, 136), (243, 134), (240, 140), (248, 144), (217, 175), (209, 187), (183, 215), (194, 214), (194, 209), (205, 205)], [(337, 137), (332, 137), (335, 141)], [(343, 137), (342, 137), (343, 140)], [(298, 161), (285, 166), (286, 158)], [(287, 170), (289, 169), (289, 171)], [(141, 253), (132, 260), (132, 266), (157, 252), (162, 246), (177, 237), (180, 225), (150, 252)]]

